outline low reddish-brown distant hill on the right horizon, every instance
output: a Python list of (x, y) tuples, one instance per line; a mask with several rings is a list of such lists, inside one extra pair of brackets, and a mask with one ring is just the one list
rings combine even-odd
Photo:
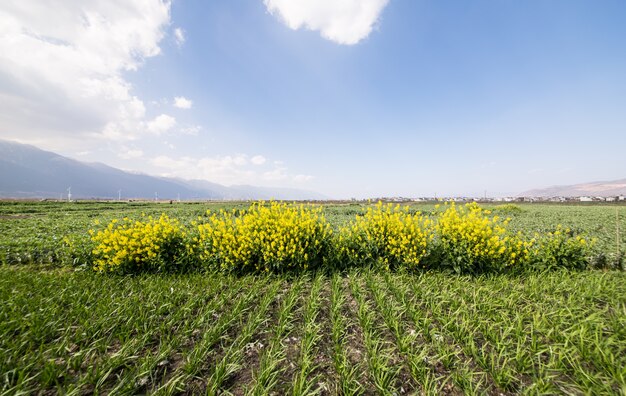
[(525, 191), (524, 197), (611, 197), (626, 195), (626, 179), (574, 184), (571, 186), (552, 186)]

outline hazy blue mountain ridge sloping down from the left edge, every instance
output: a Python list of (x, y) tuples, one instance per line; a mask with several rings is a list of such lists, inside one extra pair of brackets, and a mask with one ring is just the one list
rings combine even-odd
[(100, 163), (85, 163), (37, 147), (0, 140), (0, 197), (72, 197), (153, 199), (322, 200), (327, 197), (305, 190), (255, 186), (227, 187), (204, 180), (183, 180), (134, 174)]

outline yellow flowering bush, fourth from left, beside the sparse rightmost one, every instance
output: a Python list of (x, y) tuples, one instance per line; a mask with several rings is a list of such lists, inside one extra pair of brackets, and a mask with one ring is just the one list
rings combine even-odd
[(442, 264), (457, 273), (500, 271), (526, 262), (532, 241), (506, 230), (508, 219), (489, 217), (476, 203), (448, 208), (438, 214), (437, 246)]

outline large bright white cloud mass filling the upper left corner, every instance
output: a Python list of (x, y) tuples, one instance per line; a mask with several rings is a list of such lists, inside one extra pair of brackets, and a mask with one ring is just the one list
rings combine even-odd
[(0, 2), (0, 130), (44, 146), (149, 132), (124, 73), (160, 53), (169, 23), (166, 0)]

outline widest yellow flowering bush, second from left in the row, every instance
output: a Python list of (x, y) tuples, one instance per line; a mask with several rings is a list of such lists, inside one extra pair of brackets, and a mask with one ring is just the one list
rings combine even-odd
[(197, 225), (200, 259), (223, 271), (306, 270), (328, 257), (332, 229), (321, 208), (259, 202), (209, 213)]

